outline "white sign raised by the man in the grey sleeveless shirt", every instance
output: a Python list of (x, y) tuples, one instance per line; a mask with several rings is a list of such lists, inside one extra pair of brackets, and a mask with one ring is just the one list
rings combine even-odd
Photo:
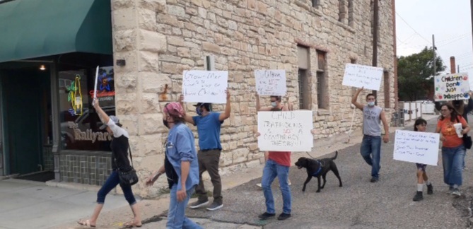
[(383, 68), (360, 64), (346, 64), (342, 85), (380, 90)]

